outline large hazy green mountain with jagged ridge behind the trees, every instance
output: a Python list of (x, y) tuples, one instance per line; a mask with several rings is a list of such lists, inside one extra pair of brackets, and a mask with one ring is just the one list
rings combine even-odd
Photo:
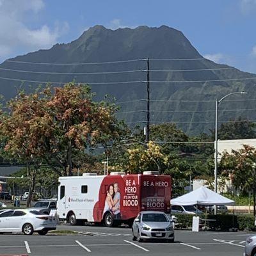
[[(205, 59), (182, 32), (167, 26), (159, 28), (140, 26), (135, 29), (122, 28), (114, 31), (103, 26), (94, 26), (69, 44), (56, 44), (48, 50), (31, 52), (6, 60), (0, 65), (0, 77), (11, 80), (0, 79), (0, 93), (6, 99), (10, 99), (17, 93), (20, 84), (25, 88), (28, 88), (29, 84), (33, 88), (39, 84), (26, 81), (63, 83), (76, 79), (77, 82), (91, 84), (93, 92), (97, 93), (95, 98), (97, 100), (103, 99), (104, 95), (108, 94), (115, 97), (116, 102), (123, 102), (120, 103), (122, 108), (117, 115), (132, 125), (146, 121), (147, 105), (145, 100), (140, 99), (147, 98), (147, 84), (141, 82), (147, 80), (147, 72), (145, 72), (147, 58), (149, 58), (150, 70), (161, 70), (161, 72), (150, 71), (152, 122), (177, 122), (179, 127), (189, 134), (209, 132), (209, 129), (214, 127), (214, 100), (220, 99), (227, 93), (241, 90), (248, 92), (248, 95), (233, 95), (221, 102), (220, 122), (234, 120), (238, 116), (250, 120), (256, 119), (256, 102), (253, 100), (256, 99), (254, 90), (256, 79), (250, 79), (256, 75)], [(102, 63), (111, 61), (125, 62)], [(124, 70), (135, 71), (118, 73)], [(50, 72), (52, 74), (49, 74)], [(95, 72), (104, 74), (70, 74)], [(106, 72), (117, 73), (106, 74)], [(249, 79), (220, 81), (238, 78)], [(138, 82), (118, 83), (127, 81)], [(155, 83), (156, 81), (172, 81), (172, 83)], [(126, 102), (131, 100), (137, 101)]]

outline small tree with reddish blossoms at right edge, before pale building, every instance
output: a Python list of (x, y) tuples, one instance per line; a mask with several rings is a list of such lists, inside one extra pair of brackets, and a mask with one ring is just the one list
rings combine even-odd
[(240, 191), (253, 192), (253, 214), (256, 214), (256, 149), (243, 145), (239, 150), (225, 152), (221, 157), (222, 175), (230, 177)]

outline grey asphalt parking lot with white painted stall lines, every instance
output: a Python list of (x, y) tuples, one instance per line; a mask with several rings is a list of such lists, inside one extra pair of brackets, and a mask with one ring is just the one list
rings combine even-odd
[(244, 241), (252, 233), (175, 231), (175, 243), (131, 239), (129, 228), (61, 225), (77, 235), (0, 235), (0, 255), (243, 255)]

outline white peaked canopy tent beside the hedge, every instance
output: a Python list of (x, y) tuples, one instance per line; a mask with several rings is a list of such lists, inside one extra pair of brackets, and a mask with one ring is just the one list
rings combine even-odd
[(171, 205), (234, 205), (235, 202), (221, 196), (214, 191), (205, 188), (198, 188), (190, 193), (171, 200)]

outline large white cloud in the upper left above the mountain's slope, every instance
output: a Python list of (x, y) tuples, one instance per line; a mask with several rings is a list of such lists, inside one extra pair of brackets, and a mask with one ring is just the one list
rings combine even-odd
[(27, 17), (36, 19), (43, 9), (43, 0), (0, 0), (0, 58), (17, 54), (17, 49), (25, 53), (56, 44), (67, 31), (67, 22), (56, 23), (53, 29), (47, 24), (31, 29), (24, 22)]

